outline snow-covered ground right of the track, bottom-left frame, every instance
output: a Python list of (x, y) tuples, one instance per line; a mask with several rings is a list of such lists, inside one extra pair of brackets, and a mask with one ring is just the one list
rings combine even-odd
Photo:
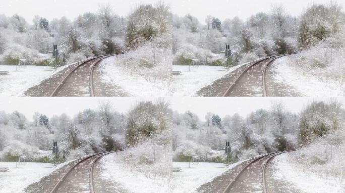
[(112, 155), (104, 156), (101, 161), (102, 175), (107, 180), (120, 183), (124, 189), (138, 193), (165, 193), (169, 192), (169, 179), (167, 177), (150, 176), (149, 173), (131, 171), (121, 165)]

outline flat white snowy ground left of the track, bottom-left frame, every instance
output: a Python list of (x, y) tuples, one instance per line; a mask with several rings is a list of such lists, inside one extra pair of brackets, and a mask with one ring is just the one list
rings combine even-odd
[(13, 162), (0, 162), (0, 167), (8, 167), (9, 172), (0, 172), (0, 192), (18, 193), (27, 185), (37, 181), (53, 169), (50, 163), (21, 163), (16, 167)]

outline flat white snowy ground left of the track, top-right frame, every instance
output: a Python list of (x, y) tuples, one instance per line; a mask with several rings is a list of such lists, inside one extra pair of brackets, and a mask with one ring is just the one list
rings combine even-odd
[(175, 75), (171, 81), (171, 92), (173, 96), (194, 96), (195, 93), (213, 83), (243, 65), (240, 64), (229, 69), (222, 66), (181, 66), (173, 65), (172, 70), (181, 71), (181, 75)]

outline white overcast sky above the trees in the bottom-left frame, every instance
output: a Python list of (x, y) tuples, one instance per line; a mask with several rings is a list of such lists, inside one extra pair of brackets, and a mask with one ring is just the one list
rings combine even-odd
[(98, 108), (102, 101), (110, 101), (114, 110), (120, 113), (127, 113), (136, 103), (148, 101), (149, 98), (0, 98), (0, 111), (12, 113), (18, 111), (25, 117), (32, 120), (35, 112), (51, 117), (53, 115), (74, 116), (85, 109)]

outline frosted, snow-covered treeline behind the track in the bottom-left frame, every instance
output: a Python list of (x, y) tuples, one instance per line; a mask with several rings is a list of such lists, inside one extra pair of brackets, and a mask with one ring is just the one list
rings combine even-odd
[(0, 112), (0, 159), (53, 161), (52, 141), (57, 141), (59, 161), (87, 154), (135, 147), (147, 139), (160, 139), (170, 129), (170, 110), (164, 101), (139, 102), (126, 114), (109, 102), (97, 110), (86, 109), (73, 117), (66, 114), (48, 118), (35, 113), (29, 121), (19, 112)]

